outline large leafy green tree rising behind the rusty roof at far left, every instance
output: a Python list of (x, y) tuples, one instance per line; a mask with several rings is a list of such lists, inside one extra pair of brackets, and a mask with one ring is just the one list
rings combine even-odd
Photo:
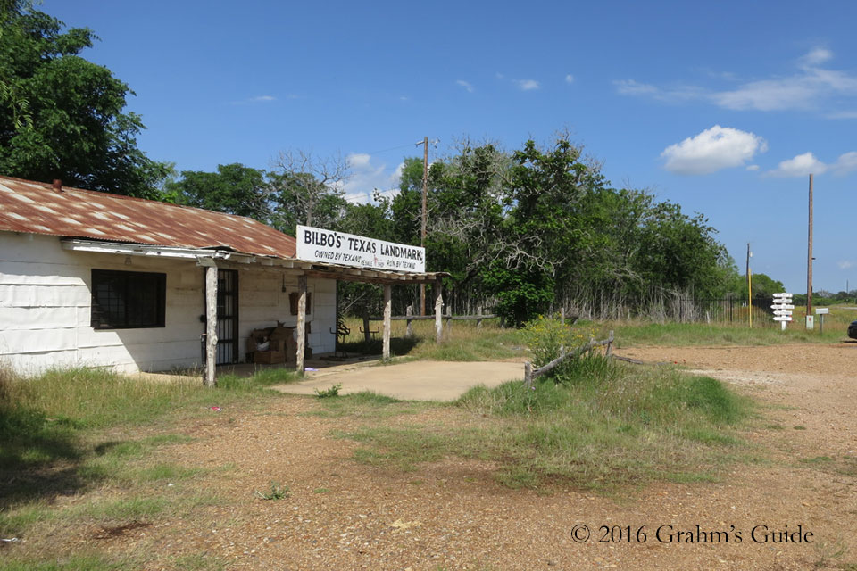
[(140, 117), (123, 112), (129, 87), (79, 54), (89, 29), (25, 2), (0, 4), (0, 172), (85, 188), (158, 197), (167, 166), (137, 148)]

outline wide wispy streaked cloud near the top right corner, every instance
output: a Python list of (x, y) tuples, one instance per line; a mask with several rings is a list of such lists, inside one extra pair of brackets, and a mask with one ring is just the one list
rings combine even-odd
[[(736, 111), (828, 109), (844, 98), (857, 96), (857, 76), (821, 67), (833, 58), (827, 48), (815, 47), (797, 62), (794, 74), (747, 81), (734, 88), (699, 86), (657, 87), (634, 79), (614, 81), (621, 95), (649, 96), (668, 102), (703, 101)], [(725, 79), (724, 80), (728, 80)], [(853, 107), (853, 103), (849, 105)], [(844, 114), (842, 114), (844, 113)], [(831, 119), (853, 119), (853, 112), (828, 112)]]

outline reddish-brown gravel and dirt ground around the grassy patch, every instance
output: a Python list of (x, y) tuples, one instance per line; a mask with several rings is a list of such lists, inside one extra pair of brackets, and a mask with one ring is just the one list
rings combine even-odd
[[(194, 482), (229, 501), (204, 517), (30, 541), (197, 554), (229, 569), (857, 568), (857, 344), (620, 354), (704, 371), (752, 395), (764, 418), (743, 436), (766, 460), (735, 465), (715, 484), (653, 484), (621, 499), (540, 495), (496, 484), (495, 467), (477, 461), (406, 473), (358, 464), (357, 443), (331, 436), (358, 420), (307, 415), (319, 401), (292, 397), (265, 410), (212, 412), (187, 426), (192, 442), (163, 449), (165, 461), (211, 468)], [(390, 422), (456, 414), (429, 409)], [(254, 498), (271, 481), (287, 484), (290, 497)], [(602, 526), (626, 528), (626, 541), (599, 542)]]

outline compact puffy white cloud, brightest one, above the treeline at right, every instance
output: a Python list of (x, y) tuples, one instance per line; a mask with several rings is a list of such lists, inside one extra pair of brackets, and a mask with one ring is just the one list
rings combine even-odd
[(664, 168), (680, 175), (705, 175), (738, 167), (764, 153), (768, 144), (758, 135), (715, 125), (695, 137), (670, 145), (661, 153)]

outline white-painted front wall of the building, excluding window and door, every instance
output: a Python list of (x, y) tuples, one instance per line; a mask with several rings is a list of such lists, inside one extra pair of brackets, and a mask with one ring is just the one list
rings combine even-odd
[[(130, 264), (126, 263), (130, 261)], [(94, 330), (90, 320), (91, 270), (157, 271), (167, 275), (165, 327)], [(194, 368), (204, 325), (204, 272), (194, 261), (70, 252), (55, 236), (0, 231), (0, 362), (23, 374), (47, 368), (111, 367), (121, 371)], [(287, 281), (279, 274), (239, 272), (239, 358), (246, 336), (289, 315)], [(336, 282), (309, 280), (313, 292), (313, 352), (335, 349)]]

